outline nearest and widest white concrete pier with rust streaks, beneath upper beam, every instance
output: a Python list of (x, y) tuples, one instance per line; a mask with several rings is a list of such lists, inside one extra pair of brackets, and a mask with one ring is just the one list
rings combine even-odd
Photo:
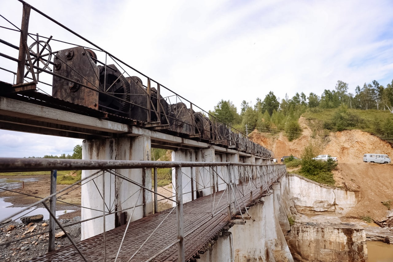
[[(84, 140), (82, 159), (147, 161), (150, 160), (150, 149), (151, 140), (145, 136)], [(99, 170), (84, 170), (82, 178), (97, 171)], [(105, 217), (106, 231), (124, 224), (131, 217), (134, 205), (136, 207), (132, 214), (132, 221), (153, 213), (152, 193), (114, 175), (114, 173), (151, 188), (151, 169), (149, 168), (112, 170), (112, 173), (105, 172), (104, 174), (101, 171), (94, 176), (93, 180), (83, 184), (81, 190), (82, 207), (90, 208), (81, 209), (82, 220), (103, 215), (102, 196), (104, 194), (106, 213), (123, 210)], [(104, 229), (103, 218), (83, 222), (81, 227), (82, 240), (100, 234)]]

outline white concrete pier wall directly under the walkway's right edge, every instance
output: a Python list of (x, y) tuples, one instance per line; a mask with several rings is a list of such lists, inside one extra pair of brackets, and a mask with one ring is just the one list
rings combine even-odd
[(284, 232), (290, 229), (286, 218), (288, 203), (284, 203), (285, 197), (281, 195), (285, 191), (286, 179), (282, 179), (273, 185), (272, 194), (262, 197), (248, 209), (251, 220), (223, 232), (223, 236), (197, 261), (293, 262), (284, 237)]

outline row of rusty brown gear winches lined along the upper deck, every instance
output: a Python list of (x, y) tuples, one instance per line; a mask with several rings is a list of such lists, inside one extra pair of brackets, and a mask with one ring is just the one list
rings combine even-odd
[(137, 120), (163, 132), (250, 153), (264, 152), (262, 146), (184, 103), (169, 105), (149, 83), (145, 87), (139, 77), (124, 76), (116, 65), (97, 65), (97, 55), (90, 49), (77, 46), (58, 51), (53, 68), (52, 96), (56, 98)]

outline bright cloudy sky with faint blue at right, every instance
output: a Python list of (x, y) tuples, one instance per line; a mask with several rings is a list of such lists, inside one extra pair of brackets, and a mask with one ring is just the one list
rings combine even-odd
[[(205, 111), (221, 99), (240, 111), (243, 100), (253, 105), (270, 91), (279, 99), (320, 96), (341, 80), (354, 94), (357, 85), (377, 80), (386, 87), (393, 79), (390, 0), (27, 2)], [(20, 26), (22, 4), (0, 0), (0, 6)], [(2, 17), (0, 26), (12, 27)], [(34, 11), (29, 32), (74, 40)], [(0, 38), (18, 45), (17, 32), (0, 28)], [(3, 44), (0, 52), (15, 55)], [(0, 57), (0, 67), (8, 68), (6, 60)], [(0, 80), (14, 81), (3, 70)], [(0, 141), (0, 157), (72, 154), (81, 144), (6, 130)]]

